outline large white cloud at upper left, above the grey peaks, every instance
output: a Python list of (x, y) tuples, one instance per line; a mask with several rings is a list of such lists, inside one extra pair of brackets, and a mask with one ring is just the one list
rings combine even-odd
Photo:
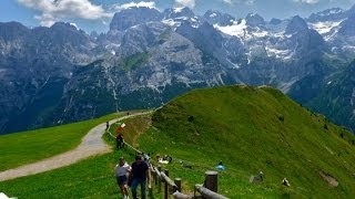
[(101, 6), (92, 4), (89, 0), (18, 0), (20, 4), (41, 12), (34, 18), (40, 20), (41, 25), (50, 27), (55, 21), (65, 18), (81, 18), (98, 20), (110, 18)]

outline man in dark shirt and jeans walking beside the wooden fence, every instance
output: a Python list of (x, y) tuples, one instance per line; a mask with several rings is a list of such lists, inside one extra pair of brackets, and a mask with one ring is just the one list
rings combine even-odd
[(132, 179), (132, 197), (136, 199), (136, 187), (141, 184), (141, 198), (146, 198), (146, 182), (148, 188), (151, 188), (151, 176), (149, 171), (149, 166), (142, 160), (142, 156), (135, 156), (135, 161), (132, 164), (132, 170), (130, 172), (130, 178)]

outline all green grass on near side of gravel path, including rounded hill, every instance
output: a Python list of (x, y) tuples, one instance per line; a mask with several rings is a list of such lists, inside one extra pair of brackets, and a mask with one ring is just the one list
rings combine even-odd
[[(173, 164), (163, 167), (172, 179), (183, 179), (183, 192), (193, 192), (193, 186), (203, 182), (204, 171), (223, 160), (227, 169), (219, 172), (219, 190), (230, 198), (355, 195), (354, 136), (270, 87), (195, 90), (156, 111), (148, 130), (149, 116), (125, 123), (129, 143), (138, 142), (135, 146), (146, 153), (173, 156)], [(112, 169), (121, 155), (133, 159), (131, 150), (115, 150), (0, 182), (0, 190), (21, 198), (116, 198)], [(182, 167), (179, 159), (192, 168)], [(260, 170), (264, 182), (250, 184), (250, 176)], [(320, 172), (336, 178), (338, 187), (331, 187)], [(281, 185), (284, 177), (291, 187)]]

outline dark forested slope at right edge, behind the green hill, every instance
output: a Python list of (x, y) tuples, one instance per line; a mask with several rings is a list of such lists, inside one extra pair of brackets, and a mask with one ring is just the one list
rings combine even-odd
[(307, 76), (295, 83), (288, 95), (355, 133), (354, 72), (355, 61), (334, 75)]

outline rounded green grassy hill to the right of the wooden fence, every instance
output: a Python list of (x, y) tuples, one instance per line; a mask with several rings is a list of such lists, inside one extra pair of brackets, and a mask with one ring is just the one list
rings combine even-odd
[[(354, 135), (277, 90), (195, 90), (158, 109), (152, 119), (140, 146), (193, 165), (170, 168), (186, 184), (202, 182), (202, 171), (223, 160), (227, 169), (220, 172), (220, 192), (230, 198), (355, 195)], [(260, 170), (264, 182), (250, 184)], [(284, 177), (290, 188), (281, 185)]]

